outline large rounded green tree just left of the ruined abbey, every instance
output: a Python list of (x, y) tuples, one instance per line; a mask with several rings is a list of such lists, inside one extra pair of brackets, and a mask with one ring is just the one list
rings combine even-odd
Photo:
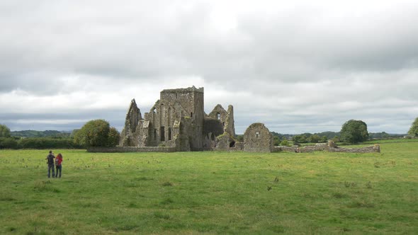
[(84, 147), (114, 147), (119, 142), (119, 132), (106, 120), (91, 120), (74, 133), (74, 142)]

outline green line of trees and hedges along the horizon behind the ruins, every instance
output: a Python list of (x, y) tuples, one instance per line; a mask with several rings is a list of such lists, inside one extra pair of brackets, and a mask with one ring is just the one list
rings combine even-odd
[[(29, 134), (35, 137), (23, 138), (13, 134)], [(42, 137), (50, 134), (54, 137)], [(341, 127), (340, 132), (321, 132), (303, 134), (273, 134), (274, 145), (288, 145), (290, 140), (298, 143), (320, 143), (332, 139), (334, 142), (346, 142), (350, 144), (364, 142), (373, 138), (388, 138), (391, 134), (386, 132), (369, 133), (366, 122), (362, 120), (349, 120)], [(412, 122), (408, 131), (409, 137), (418, 137), (418, 117)], [(41, 137), (40, 137), (41, 136)], [(240, 136), (238, 136), (238, 139)], [(242, 136), (241, 136), (242, 137)], [(394, 137), (394, 135), (392, 135)], [(402, 137), (396, 134), (395, 137)], [(6, 125), (0, 125), (0, 149), (81, 149), (87, 147), (114, 147), (119, 143), (120, 134), (115, 127), (111, 127), (106, 120), (98, 119), (86, 122), (80, 130), (74, 130), (71, 134), (62, 135), (57, 131), (23, 131), (11, 132)], [(241, 138), (242, 139), (242, 138)]]

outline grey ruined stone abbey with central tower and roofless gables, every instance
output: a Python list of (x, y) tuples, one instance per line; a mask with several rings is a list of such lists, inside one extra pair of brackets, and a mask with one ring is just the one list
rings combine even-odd
[(175, 151), (271, 151), (273, 148), (271, 134), (261, 123), (247, 130), (252, 135), (247, 137), (248, 144), (237, 142), (232, 105), (225, 110), (218, 104), (209, 114), (203, 109), (203, 88), (194, 86), (161, 91), (159, 100), (144, 117), (133, 99), (120, 134), (120, 146), (171, 147)]

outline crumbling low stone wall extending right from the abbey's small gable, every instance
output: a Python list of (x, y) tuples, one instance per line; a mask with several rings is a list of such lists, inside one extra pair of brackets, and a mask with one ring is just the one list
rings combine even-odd
[(341, 148), (337, 147), (334, 142), (329, 142), (328, 144), (315, 144), (313, 146), (278, 146), (275, 147), (275, 151), (292, 151), (295, 153), (309, 153), (312, 151), (333, 151), (333, 152), (344, 152), (344, 153), (380, 153), (380, 145), (375, 144), (368, 147), (362, 148)]

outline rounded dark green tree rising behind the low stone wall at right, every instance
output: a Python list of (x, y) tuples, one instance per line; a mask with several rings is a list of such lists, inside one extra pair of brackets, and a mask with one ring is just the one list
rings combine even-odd
[(363, 142), (368, 139), (367, 125), (361, 120), (349, 120), (341, 127), (341, 141), (348, 143)]

